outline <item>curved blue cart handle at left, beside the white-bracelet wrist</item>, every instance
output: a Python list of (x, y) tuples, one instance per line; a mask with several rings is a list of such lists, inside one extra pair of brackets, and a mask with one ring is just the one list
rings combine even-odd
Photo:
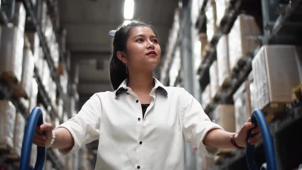
[[(30, 155), (31, 155), (31, 147), (33, 143), (33, 137), (34, 133), (36, 131), (36, 126), (43, 124), (43, 116), (41, 109), (38, 107), (35, 107), (28, 119), (23, 143), (22, 143), (22, 150), (21, 150), (21, 159), (20, 159), (20, 170), (28, 170), (32, 169), (32, 167), (29, 166), (30, 161)], [(35, 170), (40, 170), (43, 168), (45, 161), (45, 147), (37, 147), (37, 159), (35, 164)]]

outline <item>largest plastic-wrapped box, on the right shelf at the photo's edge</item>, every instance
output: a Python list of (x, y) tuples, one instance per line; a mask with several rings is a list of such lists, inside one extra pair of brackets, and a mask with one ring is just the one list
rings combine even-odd
[(291, 45), (266, 45), (257, 52), (252, 61), (255, 108), (292, 101), (291, 90), (300, 82), (297, 55), (301, 54)]

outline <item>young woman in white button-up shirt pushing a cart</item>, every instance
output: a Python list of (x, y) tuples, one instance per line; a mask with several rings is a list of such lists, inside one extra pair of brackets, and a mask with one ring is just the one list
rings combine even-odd
[[(110, 65), (115, 91), (94, 94), (55, 130), (51, 123), (37, 127), (34, 143), (67, 155), (99, 139), (96, 169), (157, 170), (184, 168), (184, 141), (215, 155), (220, 148), (245, 147), (261, 139), (249, 119), (239, 132), (225, 132), (183, 88), (163, 86), (153, 77), (160, 57), (151, 26), (133, 22), (119, 27)], [(252, 128), (255, 135), (247, 141)]]

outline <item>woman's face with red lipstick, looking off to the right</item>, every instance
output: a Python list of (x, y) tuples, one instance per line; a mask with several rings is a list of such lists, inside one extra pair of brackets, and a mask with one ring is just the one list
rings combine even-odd
[(154, 32), (145, 26), (134, 27), (126, 44), (128, 69), (152, 71), (159, 65), (161, 49)]

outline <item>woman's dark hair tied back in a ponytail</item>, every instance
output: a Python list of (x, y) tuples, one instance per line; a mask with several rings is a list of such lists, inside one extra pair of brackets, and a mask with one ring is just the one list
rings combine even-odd
[[(126, 66), (118, 59), (116, 53), (118, 51), (126, 52), (127, 39), (130, 36), (131, 30), (134, 27), (144, 26), (150, 28), (157, 36), (154, 28), (143, 22), (133, 21), (128, 25), (120, 25), (115, 32), (112, 45), (112, 58), (110, 61), (110, 79), (114, 90), (120, 86), (124, 79), (129, 78), (126, 74)], [(157, 36), (158, 37), (158, 36)]]

